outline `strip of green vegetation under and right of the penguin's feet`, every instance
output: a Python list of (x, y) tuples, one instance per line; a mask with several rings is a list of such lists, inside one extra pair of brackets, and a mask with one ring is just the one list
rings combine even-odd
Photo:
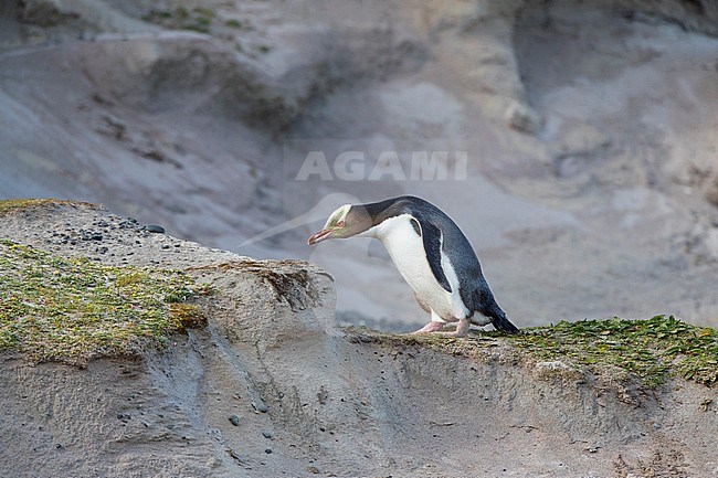
[(437, 334), (395, 336), (349, 331), (350, 340), (416, 344), (452, 354), (485, 357), (494, 348), (510, 348), (519, 359), (561, 361), (594, 374), (617, 372), (655, 387), (671, 376), (708, 386), (718, 383), (718, 330), (696, 327), (675, 317), (648, 320), (581, 320), (524, 329), (517, 336), (482, 332), (462, 339)]

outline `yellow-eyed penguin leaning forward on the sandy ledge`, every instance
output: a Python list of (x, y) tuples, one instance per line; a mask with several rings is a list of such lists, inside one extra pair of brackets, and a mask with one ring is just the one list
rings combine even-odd
[(413, 333), (440, 331), (463, 337), (469, 325), (492, 323), (496, 330), (518, 333), (494, 299), (476, 253), (456, 223), (426, 200), (402, 195), (368, 204), (345, 204), (331, 213), (308, 245), (331, 238), (374, 237), (414, 291), (431, 321)]

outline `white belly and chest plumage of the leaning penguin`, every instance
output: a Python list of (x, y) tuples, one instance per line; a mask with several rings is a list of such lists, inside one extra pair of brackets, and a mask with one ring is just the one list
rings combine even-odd
[(448, 258), (442, 252), (441, 265), (452, 291), (444, 289), (429, 266), (424, 243), (411, 224), (411, 215), (390, 217), (367, 231), (379, 238), (391, 256), (397, 269), (414, 290), (416, 296), (436, 316), (446, 321), (455, 321), (468, 315), (458, 293), (458, 278)]

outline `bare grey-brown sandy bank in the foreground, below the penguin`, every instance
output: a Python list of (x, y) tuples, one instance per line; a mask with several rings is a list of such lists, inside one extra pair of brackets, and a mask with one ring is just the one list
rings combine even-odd
[(188, 270), (209, 325), (85, 368), (1, 355), (12, 477), (710, 477), (714, 389), (656, 390), (335, 325), (331, 277), (207, 248), (91, 204), (6, 213), (0, 237), (108, 265)]

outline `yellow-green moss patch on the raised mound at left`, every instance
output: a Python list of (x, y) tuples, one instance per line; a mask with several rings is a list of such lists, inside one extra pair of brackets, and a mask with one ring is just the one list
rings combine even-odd
[(112, 267), (0, 240), (0, 349), (84, 364), (134, 355), (205, 323), (207, 293), (177, 270)]

